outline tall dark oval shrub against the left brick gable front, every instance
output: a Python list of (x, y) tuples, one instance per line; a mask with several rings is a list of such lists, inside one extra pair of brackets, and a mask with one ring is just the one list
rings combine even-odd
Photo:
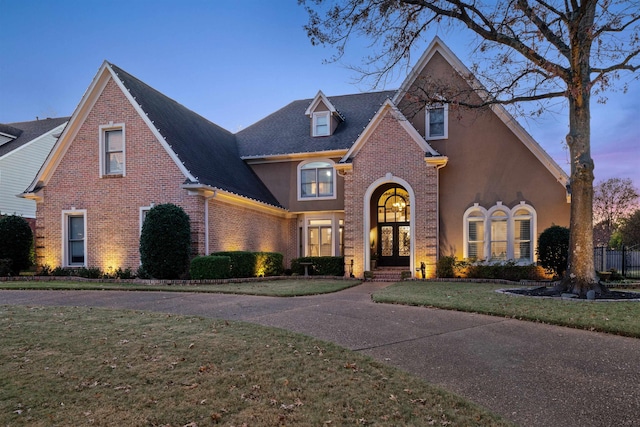
[(189, 268), (189, 215), (171, 203), (149, 210), (140, 235), (142, 268), (156, 279), (178, 279)]

